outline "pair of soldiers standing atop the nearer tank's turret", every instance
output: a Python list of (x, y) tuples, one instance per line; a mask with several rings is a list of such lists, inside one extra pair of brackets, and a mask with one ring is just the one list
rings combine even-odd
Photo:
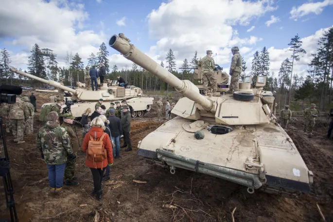
[[(212, 51), (207, 50), (207, 55), (198, 61), (198, 66), (202, 68), (202, 81), (204, 85), (204, 95), (208, 95), (208, 89), (211, 89), (213, 96), (219, 96), (217, 93), (217, 83), (214, 76), (215, 62), (211, 57)], [(239, 53), (237, 46), (231, 48), (232, 59), (230, 64), (229, 75), (231, 76), (229, 90), (227, 93), (232, 93), (239, 90), (238, 81), (242, 72), (242, 56)]]

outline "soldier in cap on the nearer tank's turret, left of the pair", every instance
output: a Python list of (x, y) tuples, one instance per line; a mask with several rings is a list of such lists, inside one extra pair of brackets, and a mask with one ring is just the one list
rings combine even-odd
[(202, 81), (204, 84), (204, 94), (207, 96), (208, 86), (212, 89), (213, 94), (216, 94), (217, 84), (214, 76), (215, 62), (211, 57), (212, 52), (206, 51), (207, 55), (198, 61), (198, 66), (202, 67)]

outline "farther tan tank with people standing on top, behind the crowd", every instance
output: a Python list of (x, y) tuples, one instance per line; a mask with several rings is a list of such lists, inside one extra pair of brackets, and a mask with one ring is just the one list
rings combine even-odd
[[(152, 97), (144, 97), (142, 90), (134, 85), (128, 85), (126, 88), (117, 86), (117, 80), (113, 80), (111, 83), (104, 83), (98, 91), (92, 91), (83, 88), (72, 89), (53, 80), (45, 80), (26, 72), (19, 71), (16, 68), (10, 68), (10, 70), (19, 75), (29, 77), (41, 83), (52, 85), (56, 88), (65, 90), (65, 92), (67, 91), (68, 93), (71, 93), (73, 96), (70, 99), (74, 103), (70, 106), (70, 110), (74, 117), (82, 117), (83, 112), (87, 108), (91, 108), (93, 112), (95, 110), (96, 102), (101, 98), (104, 101), (103, 104), (106, 109), (110, 107), (110, 102), (122, 102), (123, 100), (126, 100), (127, 104), (132, 106), (134, 110), (132, 117), (142, 117), (145, 112), (150, 111), (154, 100)], [(43, 106), (46, 104), (55, 103), (45, 103)]]

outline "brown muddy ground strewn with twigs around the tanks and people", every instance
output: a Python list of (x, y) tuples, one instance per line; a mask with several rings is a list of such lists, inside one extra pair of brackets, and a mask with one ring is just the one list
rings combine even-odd
[[(36, 94), (37, 107), (49, 102), (47, 94)], [(35, 133), (41, 127), (38, 115)], [(101, 202), (89, 195), (92, 176), (83, 153), (78, 154), (76, 164), (80, 185), (65, 186), (56, 196), (48, 191), (48, 171), (36, 151), (35, 134), (25, 137), (26, 143), (20, 145), (7, 134), (20, 222), (231, 222), (236, 207), (236, 222), (319, 222), (322, 219), (316, 203), (326, 221), (333, 221), (333, 142), (326, 139), (325, 117), (317, 121), (311, 138), (302, 131), (301, 115), (296, 115), (297, 120), (288, 126), (287, 133), (315, 175), (310, 194), (288, 199), (261, 191), (248, 194), (242, 186), (208, 175), (180, 169), (173, 175), (149, 165), (137, 155), (136, 144), (162, 124), (155, 115), (154, 106), (145, 118), (132, 120), (134, 149), (129, 153), (121, 149), (122, 158), (116, 159), (111, 168), (112, 180), (104, 184)], [(81, 135), (80, 127), (78, 132)], [(0, 183), (0, 219), (8, 216), (2, 189)], [(165, 204), (176, 208), (162, 207)]]

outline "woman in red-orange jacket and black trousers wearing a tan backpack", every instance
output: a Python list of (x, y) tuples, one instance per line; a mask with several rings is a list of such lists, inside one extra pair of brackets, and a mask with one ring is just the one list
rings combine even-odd
[(103, 174), (106, 166), (113, 164), (112, 144), (108, 135), (104, 133), (105, 123), (101, 118), (93, 119), (90, 126), (90, 130), (83, 140), (82, 150), (86, 154), (86, 166), (90, 168), (94, 182), (91, 195), (96, 195), (96, 199), (101, 201)]

